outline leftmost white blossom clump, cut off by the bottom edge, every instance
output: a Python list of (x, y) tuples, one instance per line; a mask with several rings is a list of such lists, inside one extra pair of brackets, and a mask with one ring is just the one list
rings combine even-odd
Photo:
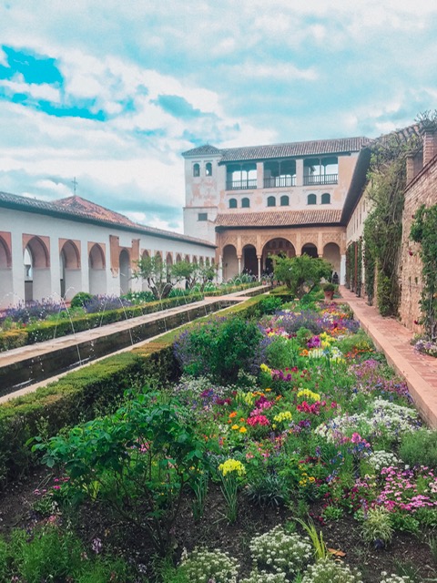
[(195, 548), (192, 553), (182, 558), (181, 570), (190, 583), (237, 583), (239, 563), (218, 549)]

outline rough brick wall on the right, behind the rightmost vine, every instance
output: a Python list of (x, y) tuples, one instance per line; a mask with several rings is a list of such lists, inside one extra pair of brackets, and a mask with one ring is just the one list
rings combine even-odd
[(422, 205), (437, 204), (437, 157), (422, 169), (405, 190), (405, 206), (402, 216), (401, 242), (401, 322), (413, 332), (422, 332), (414, 323), (422, 314), (419, 302), (422, 293), (422, 261), (420, 245), (410, 240), (412, 216)]

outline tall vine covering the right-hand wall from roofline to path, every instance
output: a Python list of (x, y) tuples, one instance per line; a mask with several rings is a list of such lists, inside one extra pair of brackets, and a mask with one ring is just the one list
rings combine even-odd
[(372, 210), (364, 223), (364, 286), (372, 296), (376, 270), (377, 303), (383, 316), (396, 315), (400, 302), (398, 270), (406, 186), (405, 157), (416, 147), (416, 139), (402, 142), (393, 134), (374, 146), (371, 154), (368, 196)]

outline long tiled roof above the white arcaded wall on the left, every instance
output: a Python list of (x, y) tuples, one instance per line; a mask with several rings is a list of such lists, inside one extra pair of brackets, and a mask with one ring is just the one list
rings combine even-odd
[(156, 229), (155, 227), (140, 225), (137, 222), (127, 219), (127, 217), (115, 212), (114, 210), (106, 209), (90, 200), (82, 199), (77, 196), (68, 197), (67, 199), (59, 199), (53, 202), (46, 202), (45, 200), (29, 199), (27, 197), (20, 197), (16, 194), (0, 191), (0, 208), (1, 207), (38, 212), (40, 214), (56, 216), (66, 220), (83, 220), (84, 222), (92, 222), (94, 224), (111, 225), (122, 230), (132, 230), (134, 232), (145, 233), (152, 236), (155, 235), (161, 238), (198, 243), (208, 247), (216, 247), (213, 243), (197, 239), (196, 237), (188, 237), (188, 235), (182, 235), (181, 233), (173, 232), (171, 230)]

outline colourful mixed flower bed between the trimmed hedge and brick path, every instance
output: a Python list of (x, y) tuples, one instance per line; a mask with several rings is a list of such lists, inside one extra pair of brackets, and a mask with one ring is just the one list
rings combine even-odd
[[(436, 433), (346, 309), (213, 319), (176, 351), (178, 384), (129, 394), (116, 414), (37, 445), (66, 472), (49, 491), (59, 507), (86, 498), (87, 515), (98, 502), (155, 551), (187, 546), (177, 568), (155, 575), (165, 583), (435, 577)], [(417, 557), (414, 575), (394, 575), (400, 537), (396, 557)], [(144, 556), (129, 556), (150, 575)]]

